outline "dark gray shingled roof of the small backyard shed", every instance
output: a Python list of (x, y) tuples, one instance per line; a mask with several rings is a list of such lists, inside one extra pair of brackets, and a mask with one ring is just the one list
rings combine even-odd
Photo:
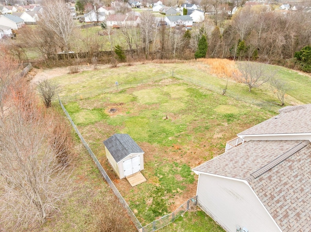
[(117, 163), (132, 153), (144, 153), (128, 134), (114, 134), (104, 145)]

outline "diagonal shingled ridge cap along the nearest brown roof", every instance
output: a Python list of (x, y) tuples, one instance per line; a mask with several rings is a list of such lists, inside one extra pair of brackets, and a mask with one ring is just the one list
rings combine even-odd
[(265, 166), (263, 166), (262, 168), (260, 168), (259, 170), (253, 172), (252, 174), (250, 174), (250, 177), (246, 178), (248, 181), (251, 181), (253, 179), (256, 179), (257, 177), (259, 177), (260, 175), (262, 175), (263, 173), (265, 173), (266, 171), (272, 169), (273, 167), (275, 167), (276, 165), (278, 165), (279, 163), (281, 163), (282, 161), (284, 161), (285, 159), (287, 159), (288, 157), (290, 157), (291, 155), (294, 155), (296, 152), (298, 152), (300, 149), (304, 148), (305, 146), (307, 146), (310, 143), (309, 140), (303, 140), (301, 141), (299, 144), (297, 144), (295, 147), (293, 147), (291, 150), (285, 152), (284, 154), (278, 156), (276, 159), (274, 159), (273, 161), (271, 161), (270, 163), (266, 164)]

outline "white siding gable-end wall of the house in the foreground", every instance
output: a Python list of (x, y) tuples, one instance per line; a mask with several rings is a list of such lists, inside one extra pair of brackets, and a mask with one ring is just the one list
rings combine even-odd
[(226, 231), (237, 225), (249, 232), (280, 232), (251, 187), (233, 180), (200, 173), (197, 200), (199, 206)]

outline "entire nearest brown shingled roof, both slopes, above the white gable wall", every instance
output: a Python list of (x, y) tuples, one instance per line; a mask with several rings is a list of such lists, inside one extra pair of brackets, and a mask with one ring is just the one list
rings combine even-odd
[(282, 231), (310, 230), (310, 141), (251, 140), (193, 170), (246, 180)]

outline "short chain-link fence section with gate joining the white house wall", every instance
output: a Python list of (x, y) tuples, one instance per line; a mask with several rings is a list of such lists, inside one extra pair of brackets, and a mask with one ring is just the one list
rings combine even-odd
[(162, 227), (174, 222), (174, 220), (178, 217), (183, 216), (184, 213), (186, 213), (189, 210), (195, 210), (196, 209), (196, 197), (190, 198), (188, 201), (183, 203), (181, 206), (179, 206), (178, 209), (176, 209), (173, 213), (165, 215), (152, 223), (146, 225), (143, 227), (142, 232), (154, 232)]

